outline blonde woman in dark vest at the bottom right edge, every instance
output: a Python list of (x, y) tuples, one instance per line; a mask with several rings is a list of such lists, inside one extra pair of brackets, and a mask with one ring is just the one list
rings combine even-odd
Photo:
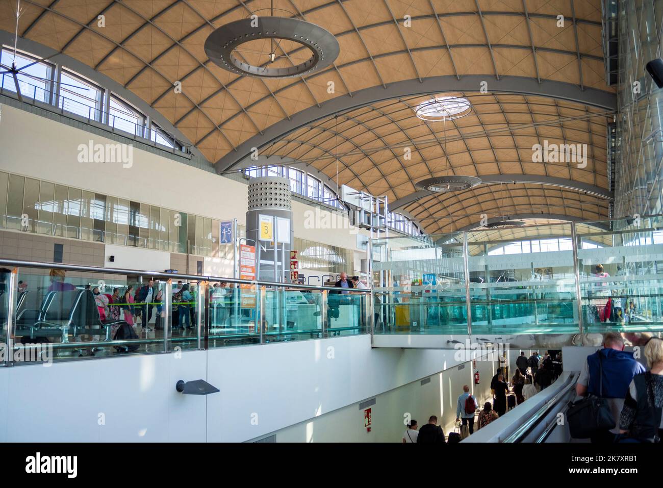
[(663, 435), (663, 339), (651, 337), (644, 357), (649, 371), (633, 377), (619, 417), (625, 442), (660, 442)]

